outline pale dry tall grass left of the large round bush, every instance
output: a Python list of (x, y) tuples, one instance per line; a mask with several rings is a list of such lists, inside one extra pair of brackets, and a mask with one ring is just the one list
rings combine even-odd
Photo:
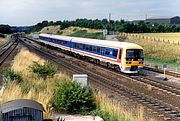
[(58, 73), (53, 78), (43, 80), (33, 75), (27, 69), (34, 61), (44, 63), (45, 60), (41, 59), (35, 54), (30, 53), (27, 49), (23, 48), (20, 53), (15, 57), (12, 69), (16, 72), (21, 72), (22, 80), (20, 84), (15, 82), (7, 85), (2, 94), (0, 103), (4, 103), (13, 99), (33, 99), (41, 103), (46, 112), (46, 118), (51, 117), (51, 99), (55, 85), (64, 80), (69, 80), (65, 74)]

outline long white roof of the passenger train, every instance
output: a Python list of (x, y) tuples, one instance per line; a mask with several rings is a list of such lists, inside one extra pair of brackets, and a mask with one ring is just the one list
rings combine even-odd
[(40, 34), (41, 36), (51, 37), (54, 39), (63, 39), (72, 42), (80, 42), (86, 44), (92, 44), (97, 46), (105, 47), (115, 47), (115, 48), (126, 48), (126, 49), (143, 49), (140, 45), (130, 42), (118, 42), (112, 40), (99, 40), (99, 39), (89, 39), (89, 38), (80, 38), (80, 37), (70, 37), (70, 36), (61, 36), (61, 35), (51, 35), (51, 34)]

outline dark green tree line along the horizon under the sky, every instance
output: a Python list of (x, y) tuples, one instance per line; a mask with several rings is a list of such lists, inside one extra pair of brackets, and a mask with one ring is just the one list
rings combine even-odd
[[(139, 23), (133, 23), (125, 20), (91, 20), (91, 19), (76, 19), (72, 21), (42, 21), (26, 32), (38, 32), (46, 26), (60, 25), (61, 29), (65, 29), (70, 26), (85, 27), (91, 29), (107, 29), (108, 31), (126, 32), (126, 33), (158, 33), (158, 32), (179, 32), (180, 25), (175, 24), (152, 24), (140, 21)], [(15, 32), (9, 25), (0, 25), (0, 33), (8, 34)]]

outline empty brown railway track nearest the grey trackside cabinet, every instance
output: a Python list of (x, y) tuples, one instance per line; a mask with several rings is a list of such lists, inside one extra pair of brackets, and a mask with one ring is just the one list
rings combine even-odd
[[(53, 60), (54, 62), (58, 63), (59, 65), (63, 66), (68, 71), (71, 71), (71, 73), (86, 73), (89, 75), (89, 79), (91, 81), (93, 81), (94, 83), (96, 83), (97, 85), (104, 86), (105, 88), (110, 89), (114, 92), (126, 95), (127, 97), (132, 98), (132, 99), (142, 103), (143, 105), (145, 105), (149, 108), (152, 108), (152, 109), (156, 110), (157, 112), (163, 114), (165, 117), (168, 117), (167, 119), (169, 119), (169, 120), (179, 120), (180, 119), (179, 108), (177, 108), (176, 106), (165, 103), (164, 100), (156, 99), (152, 96), (149, 96), (146, 93), (142, 93), (142, 92), (136, 91), (134, 89), (127, 88), (127, 85), (119, 83), (120, 80), (118, 80), (118, 79), (121, 79), (121, 81), (122, 81), (123, 79), (126, 79), (126, 80), (128, 80), (128, 83), (129, 83), (129, 81), (132, 81), (132, 82), (137, 81), (137, 78), (133, 79), (131, 77), (126, 77), (126, 78), (124, 77), (122, 79), (122, 76), (117, 78), (117, 75), (112, 72), (111, 73), (113, 74), (113, 76), (110, 76), (110, 75), (107, 76), (107, 74), (103, 74), (103, 73), (96, 71), (95, 68), (93, 71), (88, 70), (87, 68), (81, 66), (83, 64), (78, 64), (78, 63), (71, 64), (72, 60), (68, 60), (65, 58), (62, 59), (53, 54), (39, 50), (38, 48), (31, 47), (27, 43), (25, 45), (28, 46), (29, 48), (35, 50), (36, 52), (40, 53), (41, 55), (46, 56), (47, 58)], [(120, 75), (118, 75), (118, 76), (120, 76)], [(170, 93), (172, 93), (172, 90), (171, 89), (169, 89), (169, 90), (171, 91)], [(165, 91), (169, 92), (167, 89)], [(168, 94), (170, 94), (170, 93), (168, 93)], [(177, 92), (173, 92), (173, 94), (174, 93), (176, 94)]]

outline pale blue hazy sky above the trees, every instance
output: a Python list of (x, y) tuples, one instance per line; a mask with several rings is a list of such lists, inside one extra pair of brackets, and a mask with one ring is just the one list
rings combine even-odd
[(35, 25), (43, 20), (139, 20), (180, 16), (180, 0), (0, 0), (0, 24)]

